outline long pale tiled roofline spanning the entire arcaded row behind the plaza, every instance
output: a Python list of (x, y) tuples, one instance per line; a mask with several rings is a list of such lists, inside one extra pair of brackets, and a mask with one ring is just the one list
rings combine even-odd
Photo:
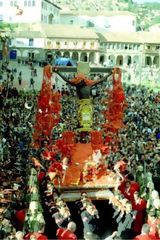
[(106, 32), (96, 33), (94, 28), (66, 24), (20, 24), (11, 33), (12, 37), (54, 38), (54, 39), (92, 39), (102, 42), (153, 43), (160, 44), (160, 32)]

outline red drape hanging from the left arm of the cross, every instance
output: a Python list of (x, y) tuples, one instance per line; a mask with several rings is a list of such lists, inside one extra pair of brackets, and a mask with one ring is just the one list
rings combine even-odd
[(52, 129), (59, 122), (61, 95), (52, 90), (51, 77), (51, 66), (47, 65), (43, 70), (42, 88), (38, 97), (38, 111), (35, 116), (33, 146), (40, 145), (42, 140), (51, 140)]

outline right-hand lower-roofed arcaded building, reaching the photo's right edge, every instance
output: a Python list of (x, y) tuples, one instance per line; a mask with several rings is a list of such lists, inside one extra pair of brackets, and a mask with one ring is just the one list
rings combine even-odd
[(160, 32), (100, 35), (100, 62), (113, 65), (160, 66)]

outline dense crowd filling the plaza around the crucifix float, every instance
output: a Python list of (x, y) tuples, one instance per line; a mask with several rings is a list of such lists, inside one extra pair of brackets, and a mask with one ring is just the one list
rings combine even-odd
[[(0, 239), (45, 240), (51, 238), (47, 236), (48, 223), (53, 224), (54, 238), (78, 239), (78, 225), (47, 173), (49, 161), (43, 155), (46, 142), (38, 150), (31, 144), (39, 92), (32, 88), (34, 82), (29, 91), (17, 90), (12, 79), (15, 74), (20, 79), (23, 73), (12, 70), (8, 73), (7, 65), (1, 69)], [(36, 71), (31, 69), (31, 73), (33, 79)], [(120, 176), (110, 200), (117, 229), (106, 239), (160, 239), (160, 93), (141, 85), (125, 83), (123, 87), (127, 102), (125, 127), (108, 136), (110, 151), (105, 159), (107, 168)], [(77, 126), (74, 87), (55, 88), (62, 95), (62, 110), (60, 122), (53, 129), (53, 140)], [(111, 88), (111, 81), (92, 89), (95, 130), (101, 130), (104, 122), (106, 88)], [(80, 140), (89, 142), (90, 138), (84, 135), (81, 139), (77, 134), (76, 141)], [(60, 162), (61, 158), (58, 153), (56, 160)], [(104, 239), (100, 237), (98, 210), (86, 193), (82, 193), (75, 207), (81, 216), (84, 239)]]

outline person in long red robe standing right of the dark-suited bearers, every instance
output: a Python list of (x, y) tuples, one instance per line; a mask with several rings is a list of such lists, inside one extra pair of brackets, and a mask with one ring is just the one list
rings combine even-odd
[(133, 196), (132, 209), (137, 211), (135, 220), (133, 222), (133, 230), (136, 234), (139, 234), (145, 222), (147, 202), (139, 197), (138, 192), (134, 192)]

